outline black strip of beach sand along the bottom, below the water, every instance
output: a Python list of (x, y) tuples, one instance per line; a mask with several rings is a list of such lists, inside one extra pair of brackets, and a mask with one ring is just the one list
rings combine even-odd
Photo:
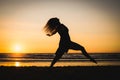
[(0, 67), (1, 80), (116, 80), (120, 66)]

